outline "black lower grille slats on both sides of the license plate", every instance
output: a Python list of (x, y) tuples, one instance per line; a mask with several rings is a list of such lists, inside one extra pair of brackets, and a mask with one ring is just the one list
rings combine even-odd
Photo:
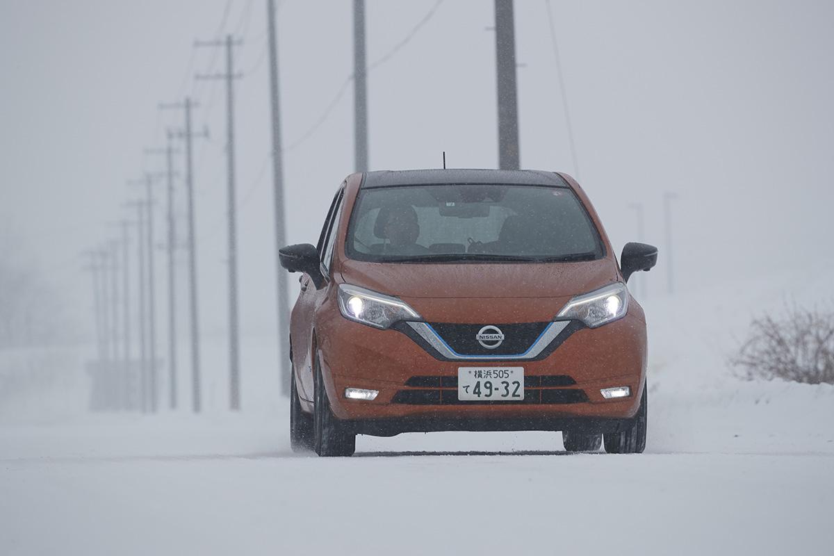
[(547, 388), (572, 386), (576, 383), (573, 378), (564, 374), (527, 376), (524, 380), (524, 399), (509, 402), (460, 400), (458, 399), (457, 377), (411, 377), (405, 382), (405, 385), (416, 388), (399, 390), (394, 394), (391, 403), (407, 405), (490, 405), (495, 403), (530, 405), (583, 403), (588, 401), (585, 392), (577, 388)]

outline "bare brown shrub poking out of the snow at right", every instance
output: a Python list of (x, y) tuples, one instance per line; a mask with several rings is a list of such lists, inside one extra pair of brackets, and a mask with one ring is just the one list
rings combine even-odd
[(756, 318), (731, 363), (750, 380), (834, 383), (834, 313), (793, 307), (784, 318)]

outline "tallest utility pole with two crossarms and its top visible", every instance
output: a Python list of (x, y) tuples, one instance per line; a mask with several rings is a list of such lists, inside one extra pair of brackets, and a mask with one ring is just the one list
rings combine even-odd
[(240, 409), (240, 332), (238, 316), (238, 239), (237, 210), (234, 193), (234, 79), (243, 77), (234, 73), (234, 47), (241, 42), (226, 35), (225, 41), (197, 42), (197, 47), (225, 47), (226, 72), (198, 75), (198, 79), (224, 79), (226, 82), (226, 156), (228, 157), (228, 209), (229, 209), (229, 407)]

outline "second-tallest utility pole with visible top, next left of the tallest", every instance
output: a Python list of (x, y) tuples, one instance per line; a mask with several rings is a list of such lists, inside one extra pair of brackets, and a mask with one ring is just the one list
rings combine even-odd
[(190, 97), (183, 103), (160, 104), (159, 108), (182, 108), (185, 127), (177, 137), (185, 139), (185, 190), (188, 197), (188, 302), (191, 321), (191, 402), (194, 413), (202, 407), (200, 396), (200, 333), (197, 305), (197, 235), (194, 223), (193, 138), (208, 137), (208, 131), (195, 134), (191, 130), (191, 110), (197, 106)]

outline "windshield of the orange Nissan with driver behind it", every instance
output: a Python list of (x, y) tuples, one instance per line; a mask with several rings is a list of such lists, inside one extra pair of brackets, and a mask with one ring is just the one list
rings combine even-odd
[(593, 260), (600, 235), (569, 188), (425, 185), (359, 193), (345, 249), (375, 263)]

